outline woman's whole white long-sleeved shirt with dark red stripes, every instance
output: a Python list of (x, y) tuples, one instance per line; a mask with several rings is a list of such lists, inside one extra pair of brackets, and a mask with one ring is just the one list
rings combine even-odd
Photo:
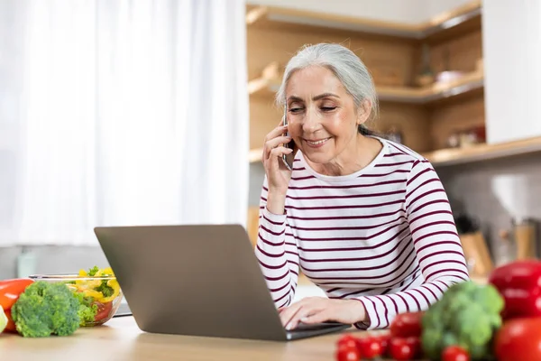
[(298, 152), (283, 215), (261, 191), (255, 253), (277, 307), (293, 300), (299, 267), (329, 298), (362, 301), (381, 329), (400, 312), (426, 310), (469, 279), (444, 187), (424, 157), (381, 139), (361, 171), (316, 173)]

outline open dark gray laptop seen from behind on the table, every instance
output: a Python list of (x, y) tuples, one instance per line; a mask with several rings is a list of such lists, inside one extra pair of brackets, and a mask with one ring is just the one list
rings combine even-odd
[(352, 327), (325, 322), (286, 330), (240, 225), (94, 231), (142, 331), (289, 341)]

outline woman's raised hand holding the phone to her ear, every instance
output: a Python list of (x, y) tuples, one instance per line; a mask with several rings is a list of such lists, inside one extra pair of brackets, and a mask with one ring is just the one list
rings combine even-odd
[(281, 125), (274, 128), (265, 137), (263, 145), (263, 166), (267, 174), (269, 184), (269, 192), (273, 194), (283, 195), (285, 198), (288, 191), (289, 180), (291, 179), (291, 171), (282, 162), (282, 155), (292, 153), (293, 150), (286, 148), (284, 144), (289, 143), (290, 137), (285, 136), (288, 131), (288, 125)]

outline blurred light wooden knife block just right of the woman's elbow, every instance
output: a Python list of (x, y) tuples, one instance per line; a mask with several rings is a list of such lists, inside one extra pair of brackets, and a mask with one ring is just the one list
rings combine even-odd
[(494, 268), (487, 243), (481, 232), (463, 234), (460, 236), (466, 263), (471, 277), (486, 277)]

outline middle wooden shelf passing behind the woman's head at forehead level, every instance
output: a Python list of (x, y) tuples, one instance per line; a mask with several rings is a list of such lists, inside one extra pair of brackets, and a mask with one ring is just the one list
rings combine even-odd
[[(248, 82), (250, 95), (274, 96), (280, 87), (280, 68), (272, 62), (261, 73), (261, 77)], [(433, 85), (412, 87), (376, 87), (381, 101), (392, 101), (409, 104), (427, 104), (448, 97), (456, 97), (484, 87), (484, 74), (481, 70), (464, 74), (460, 79), (447, 82), (436, 82)]]

